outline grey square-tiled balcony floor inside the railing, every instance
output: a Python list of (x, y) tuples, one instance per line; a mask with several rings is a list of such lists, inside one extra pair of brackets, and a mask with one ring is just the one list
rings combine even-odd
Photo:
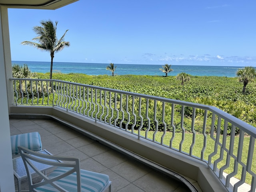
[[(43, 149), (76, 156), (82, 169), (108, 174), (112, 192), (187, 192), (186, 185), (49, 119), (10, 118), (11, 135), (37, 131)], [(17, 187), (17, 186), (16, 186)], [(22, 182), (27, 190), (27, 182)]]

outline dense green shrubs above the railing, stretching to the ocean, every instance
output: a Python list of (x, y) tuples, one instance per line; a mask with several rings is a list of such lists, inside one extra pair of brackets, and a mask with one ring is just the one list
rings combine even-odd
[[(49, 78), (49, 74), (38, 74)], [(221, 110), (256, 126), (256, 83), (250, 82), (243, 94), (238, 78), (190, 76), (184, 86), (175, 76), (89, 76), (86, 74), (54, 73), (53, 79), (113, 88), (216, 106)]]

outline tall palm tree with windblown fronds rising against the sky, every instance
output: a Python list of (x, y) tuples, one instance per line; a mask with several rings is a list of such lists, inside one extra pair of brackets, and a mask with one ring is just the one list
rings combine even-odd
[(58, 40), (56, 36), (56, 30), (57, 30), (57, 24), (58, 24), (57, 21), (55, 22), (55, 26), (51, 20), (41, 21), (40, 24), (42, 26), (34, 26), (33, 28), (34, 32), (38, 36), (33, 38), (32, 40), (38, 41), (38, 43), (31, 42), (31, 41), (23, 41), (21, 42), (21, 44), (34, 46), (39, 50), (50, 52), (50, 56), (51, 56), (50, 79), (52, 79), (52, 65), (53, 65), (54, 53), (59, 52), (65, 47), (70, 46), (70, 42), (64, 41), (64, 36), (66, 35), (68, 30), (66, 30), (66, 32), (62, 35), (62, 37)]

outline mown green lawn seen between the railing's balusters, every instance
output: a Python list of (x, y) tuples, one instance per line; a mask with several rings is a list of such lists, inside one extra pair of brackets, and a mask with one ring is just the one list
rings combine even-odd
[[(138, 133), (137, 131), (134, 131), (134, 132)], [(153, 133), (154, 133), (153, 131), (148, 132), (148, 138), (152, 139), (153, 138)], [(141, 131), (140, 134), (145, 137), (145, 131)], [(156, 141), (157, 142), (161, 141), (162, 134), (163, 134), (163, 132), (158, 132), (156, 134)], [(192, 144), (193, 134), (186, 133), (184, 137), (185, 138), (184, 138), (184, 142), (182, 144), (182, 151), (189, 154), (190, 146)], [(164, 144), (169, 146), (171, 138), (172, 138), (172, 132), (166, 132), (166, 135), (164, 136), (164, 141), (163, 141)], [(222, 138), (223, 138), (223, 135), (220, 135), (220, 139), (219, 139), (220, 144), (222, 144)], [(182, 140), (182, 133), (175, 133), (175, 138), (172, 142), (172, 147), (178, 150), (180, 148), (181, 140)], [(238, 142), (239, 142), (239, 136), (235, 136), (234, 146), (231, 147), (231, 149), (233, 149), (233, 156), (235, 156), (235, 157), (237, 157)], [(242, 150), (242, 157), (241, 157), (241, 162), (244, 165), (247, 164), (249, 142), (250, 142), (250, 137), (244, 136), (244, 142), (243, 142), (243, 146), (242, 146), (243, 150)], [(230, 144), (230, 136), (227, 136), (227, 139), (226, 139), (226, 149), (227, 150), (229, 150), (229, 148), (230, 148), (229, 144)], [(205, 149), (204, 155), (203, 155), (204, 160), (208, 160), (208, 156), (214, 152), (214, 145), (215, 145), (214, 140), (212, 138), (210, 138), (210, 135), (207, 135), (206, 149)], [(202, 134), (196, 134), (196, 140), (195, 140), (195, 144), (194, 144), (194, 147), (193, 147), (193, 150), (192, 150), (192, 155), (196, 156), (200, 159), (201, 151), (202, 151), (203, 146), (204, 146), (204, 136)], [(217, 160), (219, 157), (220, 157), (220, 145), (218, 145), (217, 153), (216, 153), (216, 155), (214, 155), (212, 157), (211, 163), (213, 164), (214, 161)], [(223, 152), (223, 160), (221, 160), (217, 164), (218, 169), (220, 169), (222, 166), (224, 166), (226, 164), (226, 157), (227, 157), (227, 152), (224, 151)], [(224, 170), (224, 172), (227, 173), (227, 174), (230, 174), (231, 172), (233, 172), (233, 168), (234, 168), (234, 158), (231, 157), (230, 158), (230, 166), (228, 168), (226, 168)], [(256, 143), (254, 143), (254, 152), (253, 152), (253, 158), (252, 158), (251, 171), (253, 173), (256, 173)], [(238, 178), (238, 179), (241, 179), (241, 175), (242, 175), (242, 165), (239, 164), (238, 165), (238, 173), (234, 177)], [(246, 172), (245, 182), (249, 185), (252, 182), (252, 175), (249, 174), (248, 172)]]

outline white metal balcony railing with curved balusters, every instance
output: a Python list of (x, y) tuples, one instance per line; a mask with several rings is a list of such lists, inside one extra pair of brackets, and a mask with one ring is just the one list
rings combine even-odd
[[(228, 190), (246, 181), (255, 192), (256, 128), (216, 107), (61, 80), (11, 80), (16, 105), (58, 106), (103, 122), (206, 162)], [(232, 189), (233, 176), (240, 181)]]

